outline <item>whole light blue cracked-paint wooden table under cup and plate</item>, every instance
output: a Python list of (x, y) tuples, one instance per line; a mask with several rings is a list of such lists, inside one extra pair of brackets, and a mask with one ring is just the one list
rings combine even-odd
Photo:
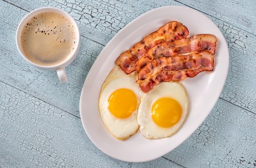
[[(83, 83), (115, 34), (167, 5), (198, 10), (218, 26), (229, 47), (227, 80), (209, 116), (175, 150), (145, 163), (119, 161), (94, 146), (83, 129)], [(69, 12), (81, 31), (81, 48), (66, 68), (65, 84), (56, 72), (28, 65), (16, 47), (19, 22), (45, 6)], [(0, 41), (1, 168), (256, 167), (256, 0), (0, 0)]]

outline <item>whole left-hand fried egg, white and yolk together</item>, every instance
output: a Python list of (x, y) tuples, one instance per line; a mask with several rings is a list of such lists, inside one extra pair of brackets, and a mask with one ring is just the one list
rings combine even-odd
[(119, 66), (115, 66), (101, 87), (101, 118), (117, 139), (126, 140), (139, 130), (137, 113), (143, 92), (136, 79), (137, 72), (127, 75)]

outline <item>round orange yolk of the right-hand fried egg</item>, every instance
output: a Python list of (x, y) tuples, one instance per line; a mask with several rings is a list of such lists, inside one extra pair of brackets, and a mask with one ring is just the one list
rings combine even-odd
[(175, 125), (180, 120), (181, 114), (182, 107), (180, 103), (171, 98), (158, 99), (151, 109), (153, 120), (161, 127)]

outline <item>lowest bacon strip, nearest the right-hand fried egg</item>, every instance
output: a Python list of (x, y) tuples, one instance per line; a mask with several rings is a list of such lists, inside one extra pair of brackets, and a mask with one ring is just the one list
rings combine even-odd
[(157, 58), (141, 69), (137, 83), (146, 93), (160, 82), (181, 81), (187, 76), (194, 77), (202, 71), (212, 71), (213, 58), (213, 54), (208, 51)]

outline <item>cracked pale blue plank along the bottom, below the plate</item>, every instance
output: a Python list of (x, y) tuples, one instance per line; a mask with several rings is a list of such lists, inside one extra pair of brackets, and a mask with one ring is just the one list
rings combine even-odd
[(78, 117), (5, 83), (0, 82), (0, 88), (0, 166), (253, 167), (256, 164), (252, 152), (256, 151), (256, 114), (221, 99), (202, 125), (175, 150), (144, 164), (128, 164), (99, 151)]

